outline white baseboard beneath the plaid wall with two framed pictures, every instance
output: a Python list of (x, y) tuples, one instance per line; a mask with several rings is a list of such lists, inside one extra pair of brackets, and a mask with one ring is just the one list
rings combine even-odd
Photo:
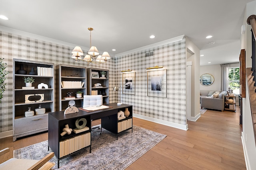
[(173, 123), (173, 122), (170, 122), (170, 121), (160, 120), (160, 119), (156, 119), (156, 118), (153, 118), (153, 117), (148, 117), (148, 116), (144, 116), (144, 115), (138, 115), (136, 113), (132, 113), (132, 116), (133, 117), (137, 117), (139, 119), (144, 119), (144, 120), (147, 120), (147, 121), (152, 121), (152, 122), (155, 122), (155, 123), (159, 123), (161, 125), (175, 127), (177, 129), (181, 129), (181, 130), (184, 130), (184, 131), (188, 130), (188, 124), (181, 125), (181, 124), (178, 124), (178, 123)]

